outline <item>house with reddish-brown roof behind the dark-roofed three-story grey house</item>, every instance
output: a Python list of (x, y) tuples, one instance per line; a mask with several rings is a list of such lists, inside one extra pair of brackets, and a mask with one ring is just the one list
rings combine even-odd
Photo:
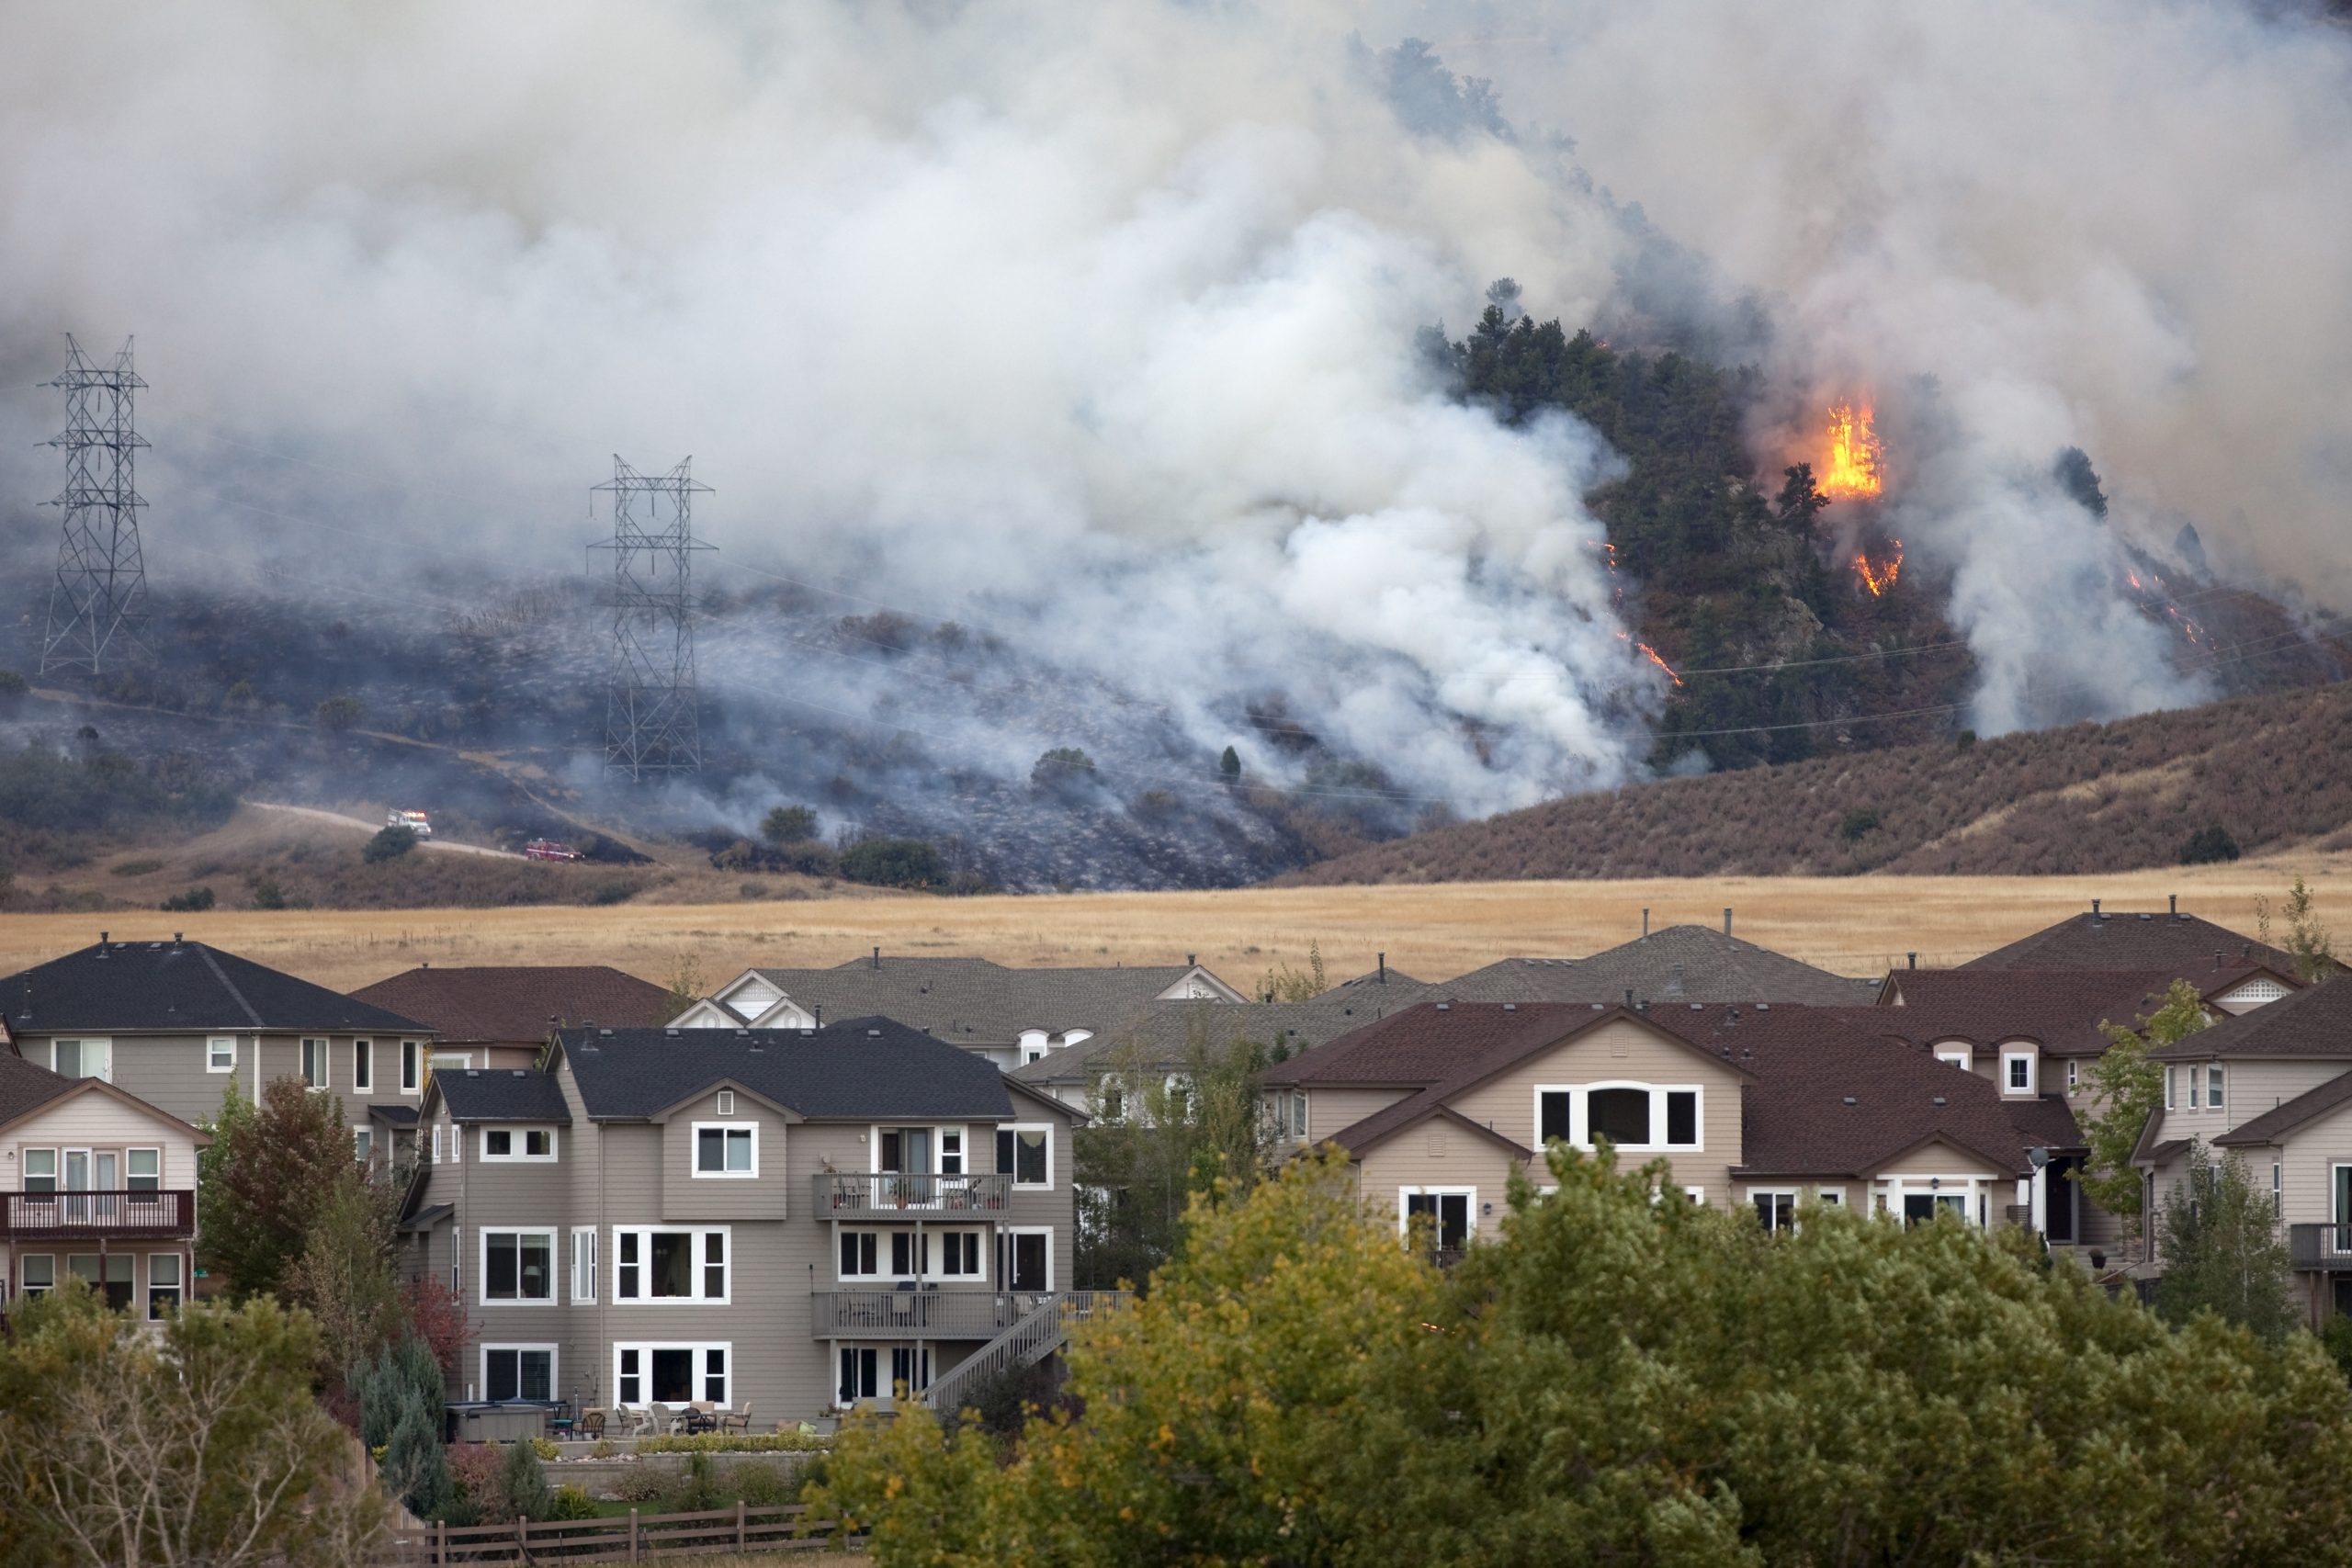
[(555, 1030), (652, 1030), (677, 1011), (668, 987), (609, 964), (419, 964), (350, 997), (430, 1027), (433, 1067), (532, 1067)]

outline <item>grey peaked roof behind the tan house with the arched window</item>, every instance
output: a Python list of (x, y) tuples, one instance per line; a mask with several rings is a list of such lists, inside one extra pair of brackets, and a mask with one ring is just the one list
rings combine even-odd
[(1503, 959), (1432, 985), (1451, 1001), (1771, 1001), (1870, 1006), (1879, 980), (1832, 976), (1712, 926), (1665, 926), (1590, 959)]

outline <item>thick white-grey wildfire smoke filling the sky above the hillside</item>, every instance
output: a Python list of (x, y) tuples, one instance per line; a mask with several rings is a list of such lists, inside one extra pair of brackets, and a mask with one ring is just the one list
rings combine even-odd
[[(1406, 35), (1512, 134), (1383, 96), (1350, 38)], [(2126, 712), (2194, 686), (2098, 592), (2117, 531), (2352, 602), (2347, 61), (2164, 0), (19, 0), (0, 520), (54, 527), (56, 334), (136, 331), (158, 574), (569, 569), (609, 454), (691, 451), (720, 581), (983, 623), (1207, 748), (1284, 693), (1486, 811), (1635, 776), (1661, 677), (1581, 503), (1609, 451), (1451, 404), (1414, 329), (1505, 273), (1571, 324), (1705, 273), (1792, 430), (1936, 378), (1896, 522), (1980, 724), (2051, 717), (2030, 679)], [(1637, 277), (1621, 202), (1705, 268)]]

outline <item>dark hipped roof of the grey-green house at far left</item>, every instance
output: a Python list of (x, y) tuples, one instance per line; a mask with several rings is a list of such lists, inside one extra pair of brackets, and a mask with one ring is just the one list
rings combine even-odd
[(14, 1034), (334, 1030), (430, 1034), (414, 1018), (205, 943), (99, 943), (0, 980)]

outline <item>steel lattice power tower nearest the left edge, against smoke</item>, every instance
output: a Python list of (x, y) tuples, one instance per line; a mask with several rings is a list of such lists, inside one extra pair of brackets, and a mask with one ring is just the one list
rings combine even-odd
[(139, 552), (134, 454), (146, 447), (132, 428), (132, 393), (146, 386), (132, 371), (132, 346), (113, 364), (96, 364), (66, 336), (66, 371), (45, 386), (66, 393), (66, 489), (49, 505), (66, 508), (56, 545), (56, 585), (49, 590), (49, 630), (40, 672), (89, 670), (141, 649), (146, 557)]

